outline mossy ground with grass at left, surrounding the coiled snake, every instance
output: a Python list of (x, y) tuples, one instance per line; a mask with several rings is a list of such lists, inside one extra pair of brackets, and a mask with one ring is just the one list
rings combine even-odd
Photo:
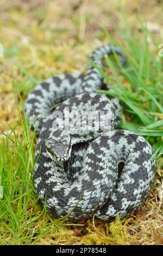
[[(128, 52), (127, 45), (129, 45), (133, 47), (135, 56), (137, 54), (141, 58), (140, 52), (146, 50), (146, 46), (143, 44), (146, 33), (141, 20), (145, 21), (146, 29), (152, 35), (148, 34), (146, 38), (149, 45), (148, 50), (159, 62), (157, 46), (163, 43), (161, 41), (163, 36), (161, 34), (162, 8), (163, 4), (159, 0), (150, 2), (143, 0), (15, 0), (12, 1), (12, 4), (1, 0), (0, 44), (3, 45), (4, 51), (4, 56), (0, 57), (1, 141), (3, 132), (8, 133), (8, 136), (5, 136), (5, 144), (1, 145), (0, 185), (4, 176), (8, 177), (8, 180), (4, 179), (2, 182), (3, 186), (7, 184), (7, 187), (4, 188), (4, 198), (0, 199), (0, 244), (163, 245), (162, 160), (159, 157), (162, 151), (155, 150), (158, 156), (158, 169), (154, 184), (145, 204), (133, 215), (123, 221), (117, 218), (112, 223), (98, 220), (94, 222), (91, 219), (77, 224), (57, 221), (48, 216), (45, 209), (42, 210), (37, 202), (32, 179), (35, 139), (32, 133), (27, 135), (27, 125), (24, 125), (21, 120), (23, 110), (18, 96), (18, 92), (20, 92), (22, 100), (25, 100), (35, 84), (49, 76), (85, 72), (87, 55), (95, 47), (109, 42), (106, 32), (120, 46), (124, 47), (124, 51), (126, 49), (126, 53)], [(136, 42), (138, 35), (137, 46), (133, 42), (134, 40)], [(130, 62), (136, 66), (134, 56), (128, 53), (128, 57)], [(155, 60), (151, 67), (154, 66)], [(146, 62), (146, 58), (144, 61)], [(151, 72), (148, 72), (148, 67), (147, 64), (145, 74), (140, 76), (142, 80), (138, 81), (137, 77), (135, 83), (140, 82), (140, 86), (142, 86), (141, 82), (147, 82), (149, 87), (151, 86), (151, 81), (148, 79), (151, 77)], [(139, 66), (136, 68), (139, 69)], [(118, 78), (113, 76), (114, 69), (111, 68), (111, 71), (106, 69), (106, 73), (118, 84)], [(155, 73), (156, 71), (158, 73)], [(159, 92), (155, 97), (157, 101), (152, 101), (153, 104), (156, 104), (156, 108), (152, 107), (154, 111), (151, 116), (154, 115), (153, 121), (156, 122), (163, 119), (161, 105), (158, 105), (158, 102), (161, 104), (162, 96), (162, 84), (160, 83), (162, 81), (162, 66), (158, 64), (158, 69), (155, 69), (155, 72), (153, 72), (154, 87), (152, 88), (154, 90), (150, 92), (153, 95), (156, 91)], [(140, 73), (141, 71), (139, 75)], [(160, 80), (155, 74), (160, 74)], [(127, 77), (127, 74), (125, 78), (123, 74), (118, 74), (118, 76), (121, 77), (124, 88), (128, 88), (129, 84), (133, 82), (131, 77)], [(13, 83), (14, 88), (17, 88), (16, 95), (13, 93)], [(143, 97), (143, 95), (141, 96)], [(136, 123), (137, 119), (134, 114), (138, 113), (137, 110), (130, 107), (129, 101), (126, 101), (126, 106), (121, 95), (120, 100), (122, 100), (124, 108), (124, 121)], [(145, 97), (143, 101), (145, 109), (148, 104), (151, 104), (150, 102)], [(148, 107), (146, 109), (148, 113), (142, 111), (142, 119), (146, 118), (146, 115), (150, 115), (150, 106)], [(137, 115), (141, 119), (139, 113)], [(127, 128), (127, 123), (124, 122), (123, 125)], [(152, 130), (153, 133), (148, 139), (153, 147), (156, 144), (162, 148), (162, 126), (157, 127), (159, 127), (157, 134), (155, 130)], [(149, 134), (144, 132), (144, 135)], [(18, 145), (16, 141), (18, 141)], [(28, 148), (27, 142), (31, 143), (32, 148)], [(24, 182), (24, 176), (21, 173), (24, 168), (23, 164), (26, 168), (28, 166), (30, 174), (26, 177), (29, 184), (24, 185), (25, 192), (24, 187), (21, 186)], [(8, 172), (10, 170), (11, 175), (7, 170)], [(17, 175), (16, 178), (13, 178), (14, 175)], [(13, 194), (12, 191), (14, 191)], [(23, 192), (21, 193), (21, 191)], [(26, 203), (23, 198), (26, 198)]]

